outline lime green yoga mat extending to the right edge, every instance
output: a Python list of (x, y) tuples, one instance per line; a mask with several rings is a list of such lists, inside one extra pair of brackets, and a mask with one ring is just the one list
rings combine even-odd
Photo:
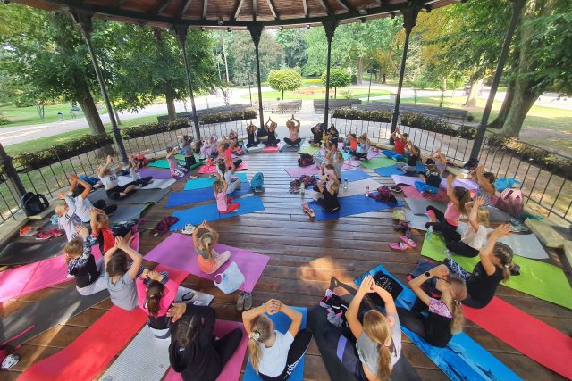
[[(447, 258), (444, 253), (445, 249), (442, 237), (433, 234), (429, 241), (425, 236), (421, 255), (436, 261), (443, 261)], [(453, 255), (452, 258), (467, 271), (473, 271), (479, 261), (478, 257), (467, 258), (461, 255)], [(514, 261), (520, 266), (520, 275), (510, 277), (507, 283), (501, 283), (501, 285), (572, 310), (572, 287), (562, 269), (550, 263), (518, 255), (515, 255)]]

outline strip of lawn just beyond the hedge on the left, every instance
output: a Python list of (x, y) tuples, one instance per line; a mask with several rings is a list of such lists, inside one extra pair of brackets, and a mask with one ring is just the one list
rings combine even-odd
[[(157, 115), (149, 115), (140, 118), (122, 120), (119, 128), (128, 128), (138, 124), (150, 123), (157, 121)], [(105, 130), (111, 131), (111, 124), (105, 123)], [(53, 135), (51, 137), (42, 137), (41, 139), (29, 140), (28, 142), (16, 143), (14, 145), (4, 146), (6, 152), (10, 155), (21, 152), (36, 152), (52, 145), (61, 145), (76, 137), (89, 134), (89, 128), (81, 128), (73, 131), (63, 132), (62, 134)]]

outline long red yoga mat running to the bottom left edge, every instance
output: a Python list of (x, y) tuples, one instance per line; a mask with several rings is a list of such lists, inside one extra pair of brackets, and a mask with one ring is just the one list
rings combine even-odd
[[(156, 271), (167, 271), (180, 284), (189, 273), (159, 265)], [(147, 321), (139, 308), (125, 311), (112, 307), (73, 343), (45, 360), (38, 361), (21, 374), (22, 381), (76, 381), (94, 379), (117, 353), (135, 336)]]

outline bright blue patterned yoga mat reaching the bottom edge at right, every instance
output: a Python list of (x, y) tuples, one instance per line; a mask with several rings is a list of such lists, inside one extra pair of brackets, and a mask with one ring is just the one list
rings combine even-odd
[[(383, 265), (379, 265), (361, 277), (357, 277), (354, 282), (359, 286), (366, 276), (373, 276), (380, 270), (386, 274), (391, 274)], [(397, 298), (396, 304), (398, 307), (409, 310), (416, 300), (416, 294), (401, 282), (400, 284), (403, 286), (403, 291)], [(405, 335), (408, 335), (409, 339), (416, 344), (417, 348), (423, 351), (451, 380), (505, 381), (521, 379), (515, 372), (507, 368), (506, 365), (490, 352), (487, 352), (467, 334), (460, 333), (453, 335), (453, 338), (445, 348), (438, 348), (427, 344), (424, 339), (409, 331), (406, 327), (401, 326), (401, 330)]]

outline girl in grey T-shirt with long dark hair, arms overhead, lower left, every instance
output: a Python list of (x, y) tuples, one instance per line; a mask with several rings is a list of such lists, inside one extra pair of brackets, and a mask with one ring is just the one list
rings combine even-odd
[[(127, 257), (133, 261), (129, 267)], [(114, 247), (104, 255), (105, 271), (107, 272), (107, 291), (111, 302), (123, 310), (137, 308), (137, 287), (135, 278), (143, 263), (143, 255), (130, 247), (121, 236), (115, 237)]]

